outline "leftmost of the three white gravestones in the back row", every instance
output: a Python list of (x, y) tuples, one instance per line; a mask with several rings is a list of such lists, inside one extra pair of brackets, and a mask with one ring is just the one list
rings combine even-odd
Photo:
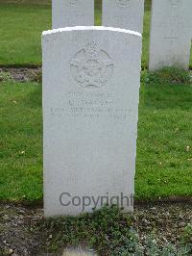
[(52, 0), (53, 29), (94, 25), (94, 0)]

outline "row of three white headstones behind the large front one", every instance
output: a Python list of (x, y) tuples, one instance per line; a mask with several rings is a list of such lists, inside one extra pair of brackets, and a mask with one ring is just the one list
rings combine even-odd
[[(191, 0), (153, 0), (150, 71), (188, 69), (192, 38)], [(144, 0), (103, 0), (102, 25), (142, 33)], [(53, 0), (53, 28), (94, 25), (94, 0)]]

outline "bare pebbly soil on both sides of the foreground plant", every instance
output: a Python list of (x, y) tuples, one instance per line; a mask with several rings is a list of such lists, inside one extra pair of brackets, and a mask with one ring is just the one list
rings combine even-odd
[[(185, 226), (192, 222), (192, 204), (136, 206), (134, 228), (141, 243), (154, 234), (158, 243), (180, 243)], [(40, 230), (43, 210), (12, 203), (0, 204), (0, 255), (55, 255), (45, 251), (49, 230)], [(64, 248), (64, 244), (63, 244)], [(56, 255), (60, 255), (57, 253)]]

